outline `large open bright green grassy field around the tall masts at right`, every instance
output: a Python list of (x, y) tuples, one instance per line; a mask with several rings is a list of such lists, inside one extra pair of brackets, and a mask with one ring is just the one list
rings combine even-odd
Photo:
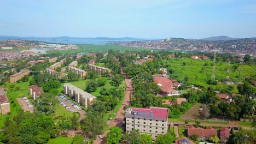
[[(185, 64), (184, 64), (185, 63)], [(207, 63), (205, 70), (201, 71), (203, 65)], [(183, 82), (184, 78), (188, 76), (188, 82), (193, 83), (203, 87), (209, 87), (210, 85), (206, 84), (207, 80), (211, 79), (212, 75), (212, 64), (213, 62), (210, 60), (196, 60), (191, 58), (174, 58), (168, 59), (164, 61), (165, 68), (168, 70), (173, 70), (173, 74), (171, 74), (173, 79), (177, 79), (178, 81)], [(238, 70), (233, 71), (231, 68), (234, 64), (230, 64), (230, 79), (234, 82), (238, 80)], [(237, 64), (235, 64), (237, 65)], [(226, 62), (217, 62), (216, 63), (216, 80), (223, 82), (226, 79), (226, 70), (227, 63)], [(242, 65), (241, 77), (243, 76), (251, 76), (256, 75), (255, 67), (249, 65)], [(227, 85), (211, 85), (213, 88), (224, 89)], [(233, 93), (238, 93), (236, 89), (236, 85), (232, 85)]]

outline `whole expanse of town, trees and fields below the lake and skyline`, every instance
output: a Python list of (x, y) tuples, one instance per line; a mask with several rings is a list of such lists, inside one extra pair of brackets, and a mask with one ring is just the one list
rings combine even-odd
[(0, 143), (255, 143), (253, 38), (0, 48)]

